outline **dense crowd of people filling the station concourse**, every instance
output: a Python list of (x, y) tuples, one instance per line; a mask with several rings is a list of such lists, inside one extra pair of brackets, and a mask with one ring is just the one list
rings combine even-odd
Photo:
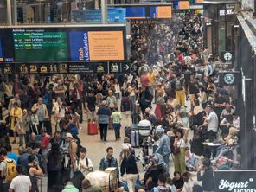
[(133, 24), (130, 74), (0, 80), (1, 191), (39, 191), (40, 176), (48, 191), (103, 191), (86, 178), (87, 122), (105, 144), (109, 129), (116, 141), (125, 129), (120, 156), (108, 147), (99, 164), (117, 168), (118, 191), (214, 191), (214, 169), (240, 167), (240, 119), (202, 33), (200, 16)]

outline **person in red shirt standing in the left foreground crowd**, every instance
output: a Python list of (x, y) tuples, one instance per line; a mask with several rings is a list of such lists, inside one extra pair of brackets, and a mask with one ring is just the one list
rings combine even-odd
[(51, 139), (51, 136), (48, 135), (45, 129), (42, 129), (42, 140), (41, 140), (42, 168), (45, 173), (47, 171), (47, 155), (48, 155), (48, 150), (50, 149), (50, 139)]

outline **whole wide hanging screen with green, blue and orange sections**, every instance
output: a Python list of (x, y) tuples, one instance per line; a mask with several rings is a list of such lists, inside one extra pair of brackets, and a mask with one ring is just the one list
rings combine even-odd
[(125, 27), (0, 28), (0, 62), (124, 61)]

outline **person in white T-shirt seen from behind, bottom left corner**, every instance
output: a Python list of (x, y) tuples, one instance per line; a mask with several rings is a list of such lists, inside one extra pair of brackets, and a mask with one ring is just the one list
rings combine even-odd
[(23, 167), (21, 165), (16, 166), (17, 176), (10, 182), (9, 192), (29, 192), (31, 189), (31, 181), (29, 176), (24, 176)]

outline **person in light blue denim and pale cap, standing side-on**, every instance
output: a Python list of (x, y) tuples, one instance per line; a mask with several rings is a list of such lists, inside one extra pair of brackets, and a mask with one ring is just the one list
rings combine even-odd
[(170, 138), (164, 133), (164, 129), (157, 127), (156, 133), (159, 138), (159, 145), (155, 153), (163, 156), (163, 161), (166, 164), (166, 172), (169, 173), (169, 157), (170, 157)]

